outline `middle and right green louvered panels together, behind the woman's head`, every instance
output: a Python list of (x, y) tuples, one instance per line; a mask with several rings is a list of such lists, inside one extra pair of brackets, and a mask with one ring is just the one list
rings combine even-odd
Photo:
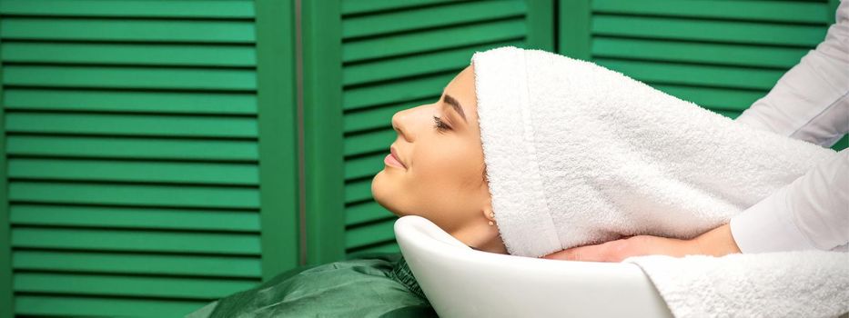
[[(823, 40), (836, 3), (305, 3), (307, 213), (313, 220), (308, 260), (398, 250), (394, 216), (370, 194), (371, 178), (396, 137), (389, 120), (401, 109), (438, 98), (476, 50), (551, 49), (556, 42), (561, 54), (736, 117)], [(845, 144), (844, 139), (835, 149)]]

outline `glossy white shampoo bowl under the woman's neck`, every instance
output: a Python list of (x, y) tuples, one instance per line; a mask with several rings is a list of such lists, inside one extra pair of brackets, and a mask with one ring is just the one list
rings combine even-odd
[(475, 251), (419, 216), (395, 222), (440, 317), (672, 317), (640, 267)]

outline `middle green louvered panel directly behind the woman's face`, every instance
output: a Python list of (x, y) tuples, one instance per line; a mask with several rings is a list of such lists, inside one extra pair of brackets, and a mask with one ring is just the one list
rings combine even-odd
[[(392, 231), (396, 218), (375, 203), (370, 192), (371, 179), (383, 168), (383, 157), (396, 137), (390, 125), (392, 114), (438, 99), (442, 88), (469, 65), (471, 55), (477, 50), (501, 45), (553, 49), (552, 2), (344, 0), (327, 3), (333, 4), (308, 6), (304, 13), (308, 21), (323, 19), (312, 21), (305, 28), (324, 27), (320, 34), (305, 35), (308, 78), (305, 107), (326, 107), (312, 116), (309, 109), (305, 110), (306, 133), (329, 134), (326, 138), (307, 136), (308, 177), (316, 170), (337, 169), (344, 180), (336, 175), (323, 179), (323, 187), (308, 187), (307, 208), (312, 218), (343, 218), (344, 234), (341, 223), (328, 224), (338, 226), (339, 230), (323, 229), (323, 236), (325, 239), (339, 236), (336, 241), (339, 247), (326, 242), (320, 248), (336, 250), (317, 257), (329, 260), (341, 253), (398, 251)], [(336, 16), (327, 16), (334, 13)], [(324, 36), (324, 40), (318, 44), (319, 39), (311, 41), (310, 36)], [(323, 60), (310, 64), (310, 56), (334, 49), (341, 53), (314, 57)], [(320, 89), (309, 89), (310, 78), (321, 83)], [(332, 98), (326, 94), (341, 95)], [(322, 104), (322, 101), (326, 102)], [(310, 130), (310, 117), (321, 118), (321, 132)], [(328, 143), (328, 140), (333, 141)], [(332, 149), (321, 153), (324, 160), (319, 160), (322, 155), (318, 154), (313, 157), (315, 160), (310, 160), (310, 147), (313, 152), (319, 152), (316, 148), (338, 144), (340, 149), (336, 153)], [(343, 169), (335, 168), (337, 164), (342, 164)], [(322, 194), (331, 195), (328, 192), (340, 191), (342, 184), (344, 205), (327, 204), (327, 196), (309, 199), (311, 191), (321, 189)], [(309, 235), (308, 242), (312, 237)], [(310, 245), (308, 250), (312, 248)]]

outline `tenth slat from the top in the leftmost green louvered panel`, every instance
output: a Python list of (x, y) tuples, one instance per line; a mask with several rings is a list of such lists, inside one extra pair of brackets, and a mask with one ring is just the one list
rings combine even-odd
[(9, 210), (15, 225), (259, 232), (259, 214), (245, 211), (35, 204), (11, 204)]

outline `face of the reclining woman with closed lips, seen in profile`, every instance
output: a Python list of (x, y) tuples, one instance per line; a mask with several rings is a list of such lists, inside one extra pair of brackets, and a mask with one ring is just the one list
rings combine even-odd
[(448, 233), (487, 223), (490, 190), (474, 76), (470, 65), (445, 87), (440, 100), (392, 116), (398, 138), (371, 183), (375, 200), (392, 213), (425, 217)]

